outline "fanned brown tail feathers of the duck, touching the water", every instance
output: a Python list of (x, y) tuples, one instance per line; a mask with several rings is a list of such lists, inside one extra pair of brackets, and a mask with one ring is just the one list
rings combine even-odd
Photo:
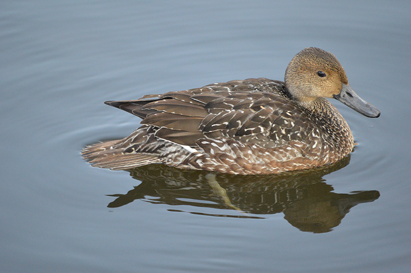
[(162, 160), (155, 154), (123, 153), (123, 149), (116, 149), (118, 141), (107, 141), (87, 146), (82, 155), (93, 167), (112, 170), (127, 170), (136, 167), (160, 163)]

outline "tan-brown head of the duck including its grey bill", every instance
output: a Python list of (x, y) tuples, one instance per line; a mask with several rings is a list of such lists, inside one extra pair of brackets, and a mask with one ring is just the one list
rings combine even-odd
[(380, 111), (348, 84), (337, 58), (320, 48), (305, 48), (293, 57), (286, 70), (285, 85), (292, 99), (303, 107), (310, 108), (319, 97), (328, 97), (369, 118), (380, 116)]

